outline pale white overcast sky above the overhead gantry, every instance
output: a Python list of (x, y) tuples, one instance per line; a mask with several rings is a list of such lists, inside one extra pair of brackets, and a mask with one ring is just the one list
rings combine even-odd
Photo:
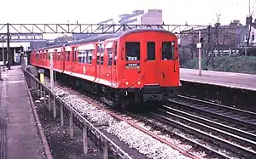
[[(0, 23), (97, 23), (136, 9), (162, 9), (166, 24), (245, 23), (249, 0), (1, 0)], [(251, 0), (252, 4), (254, 0)], [(254, 4), (255, 6), (255, 4)], [(256, 6), (255, 6), (256, 7)], [(255, 9), (255, 8), (254, 8)], [(8, 14), (9, 13), (9, 14)], [(3, 16), (4, 15), (4, 16)]]

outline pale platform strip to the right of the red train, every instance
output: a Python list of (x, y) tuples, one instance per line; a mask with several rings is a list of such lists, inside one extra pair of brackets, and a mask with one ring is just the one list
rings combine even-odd
[(201, 71), (201, 76), (199, 76), (198, 72), (194, 69), (180, 68), (180, 80), (256, 91), (256, 75), (224, 71)]

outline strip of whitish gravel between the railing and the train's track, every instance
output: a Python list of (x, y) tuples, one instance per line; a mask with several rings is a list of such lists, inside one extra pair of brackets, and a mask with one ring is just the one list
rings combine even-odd
[[(49, 82), (46, 81), (49, 86)], [(65, 88), (66, 89), (66, 88)], [(67, 104), (73, 105), (73, 108), (81, 112), (88, 120), (96, 123), (108, 123), (106, 129), (108, 133), (116, 135), (120, 140), (124, 141), (131, 148), (138, 150), (140, 153), (149, 158), (188, 158), (183, 156), (178, 150), (172, 149), (169, 145), (161, 143), (159, 140), (152, 138), (146, 133), (132, 127), (127, 122), (119, 122), (107, 112), (99, 110), (96, 106), (91, 105), (84, 97), (72, 94), (71, 91), (55, 86), (54, 92), (64, 99)]]

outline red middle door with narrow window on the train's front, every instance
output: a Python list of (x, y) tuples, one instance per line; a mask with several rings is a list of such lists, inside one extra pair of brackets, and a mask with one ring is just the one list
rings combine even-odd
[(159, 65), (158, 57), (156, 56), (156, 43), (154, 41), (143, 42), (144, 57), (144, 82), (146, 85), (159, 85)]

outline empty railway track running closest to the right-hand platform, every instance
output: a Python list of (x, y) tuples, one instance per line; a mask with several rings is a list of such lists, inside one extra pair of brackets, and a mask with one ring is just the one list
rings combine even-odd
[(256, 113), (184, 96), (169, 102), (172, 108), (211, 120), (211, 126), (256, 141)]

